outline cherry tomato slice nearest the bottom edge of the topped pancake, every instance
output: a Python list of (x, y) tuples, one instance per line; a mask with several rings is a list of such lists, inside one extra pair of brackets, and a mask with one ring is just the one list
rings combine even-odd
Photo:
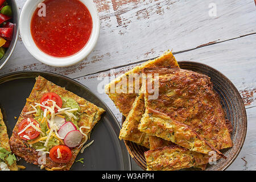
[[(60, 158), (58, 149), (61, 154)], [(72, 151), (67, 146), (55, 146), (49, 152), (49, 158), (55, 163), (67, 163), (72, 158)]]

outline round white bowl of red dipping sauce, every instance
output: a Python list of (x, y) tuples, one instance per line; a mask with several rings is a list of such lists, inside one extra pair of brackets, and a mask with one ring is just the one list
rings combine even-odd
[(27, 50), (53, 67), (84, 60), (100, 35), (100, 19), (92, 0), (27, 0), (19, 24)]

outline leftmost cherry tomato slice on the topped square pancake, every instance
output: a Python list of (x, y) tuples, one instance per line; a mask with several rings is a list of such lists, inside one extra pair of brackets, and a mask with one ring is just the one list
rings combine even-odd
[[(30, 118), (30, 121), (33, 123), (33, 125), (39, 125), (38, 122), (35, 121), (35, 119)], [(22, 122), (19, 123), (19, 129), (18, 133), (22, 131), (27, 125), (30, 124), (30, 121), (28, 119), (23, 119)], [(40, 125), (39, 125), (40, 128)], [(23, 140), (30, 140), (30, 139), (35, 139), (38, 137), (40, 134), (39, 131), (35, 130), (32, 126), (28, 127), (23, 133), (19, 134), (19, 137), (22, 138)], [(24, 135), (27, 135), (28, 138), (25, 138)]]

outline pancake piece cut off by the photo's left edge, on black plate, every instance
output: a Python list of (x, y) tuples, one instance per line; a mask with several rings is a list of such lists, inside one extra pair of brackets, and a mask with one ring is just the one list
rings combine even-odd
[(0, 109), (0, 171), (18, 171), (16, 158), (11, 154), (7, 128)]

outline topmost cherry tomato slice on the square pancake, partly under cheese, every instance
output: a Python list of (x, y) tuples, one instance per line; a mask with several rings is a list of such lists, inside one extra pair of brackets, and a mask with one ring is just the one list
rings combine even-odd
[[(51, 107), (53, 105), (53, 103), (49, 100), (55, 101), (56, 105), (59, 106), (59, 107), (62, 106), (62, 100), (61, 100), (60, 96), (56, 93), (53, 93), (53, 92), (49, 92), (49, 93), (44, 94), (43, 97), (41, 98), (40, 103), (42, 105)], [(44, 110), (46, 108), (42, 107), (42, 109)], [(58, 111), (58, 109), (55, 107), (55, 113), (57, 113), (57, 111)]]

